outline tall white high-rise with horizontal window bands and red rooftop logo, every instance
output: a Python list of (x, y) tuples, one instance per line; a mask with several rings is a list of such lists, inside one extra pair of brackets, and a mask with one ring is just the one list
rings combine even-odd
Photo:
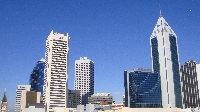
[(67, 107), (69, 35), (51, 31), (46, 40), (43, 100), (45, 109)]

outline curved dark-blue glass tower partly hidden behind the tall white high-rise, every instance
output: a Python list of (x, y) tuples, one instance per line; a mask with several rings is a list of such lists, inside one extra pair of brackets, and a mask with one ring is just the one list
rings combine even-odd
[(31, 91), (41, 92), (41, 96), (43, 95), (44, 86), (44, 62), (43, 58), (37, 62), (29, 79)]

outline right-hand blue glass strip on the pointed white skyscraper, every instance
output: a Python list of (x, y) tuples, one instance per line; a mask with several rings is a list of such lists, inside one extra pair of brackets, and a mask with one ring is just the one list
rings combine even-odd
[(172, 71), (173, 71), (173, 79), (174, 79), (175, 102), (176, 102), (177, 108), (182, 108), (181, 83), (180, 83), (176, 37), (170, 34), (169, 41), (170, 41)]

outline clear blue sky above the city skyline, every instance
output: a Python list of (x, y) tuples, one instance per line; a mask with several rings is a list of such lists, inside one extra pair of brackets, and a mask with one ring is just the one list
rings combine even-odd
[(150, 35), (162, 15), (178, 36), (180, 64), (200, 62), (199, 0), (1, 0), (0, 99), (7, 89), (14, 111), (18, 84), (28, 84), (36, 62), (45, 56), (51, 30), (70, 35), (69, 89), (74, 62), (95, 62), (95, 93), (109, 92), (121, 103), (123, 71), (151, 68)]

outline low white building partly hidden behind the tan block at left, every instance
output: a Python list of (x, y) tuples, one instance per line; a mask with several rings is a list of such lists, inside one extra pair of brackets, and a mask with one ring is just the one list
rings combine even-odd
[(21, 112), (21, 93), (23, 90), (30, 91), (31, 85), (18, 85), (16, 90), (16, 103), (15, 103), (15, 112)]

